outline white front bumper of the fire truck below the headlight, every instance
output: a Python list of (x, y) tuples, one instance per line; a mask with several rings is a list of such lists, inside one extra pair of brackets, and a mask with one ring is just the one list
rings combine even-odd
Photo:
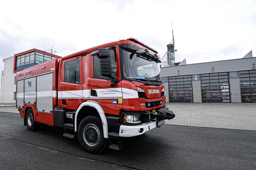
[[(168, 120), (165, 120), (165, 122)], [(137, 126), (127, 126), (127, 125), (121, 125), (119, 129), (119, 136), (121, 137), (132, 137), (132, 136), (138, 136), (145, 132), (148, 132), (151, 129), (154, 129), (156, 127), (156, 121), (154, 122), (145, 122), (141, 125)], [(143, 128), (143, 132), (140, 133), (139, 129)]]

